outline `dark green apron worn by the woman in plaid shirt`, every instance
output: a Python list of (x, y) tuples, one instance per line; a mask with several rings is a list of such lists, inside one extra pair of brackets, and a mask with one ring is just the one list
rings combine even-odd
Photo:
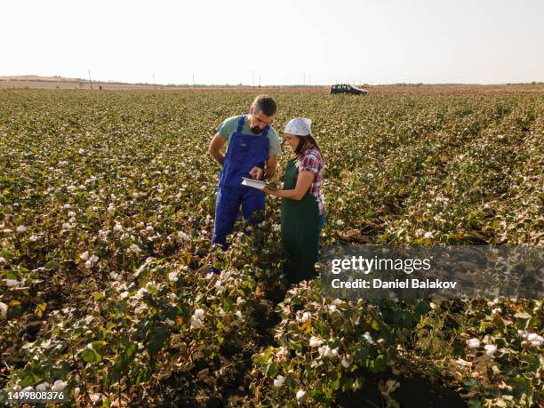
[[(285, 168), (285, 190), (295, 188), (297, 184), (298, 170), (295, 163), (296, 158), (293, 158)], [(309, 191), (300, 201), (282, 199), (282, 243), (290, 255), (284, 272), (291, 284), (316, 277), (318, 217), (316, 197)]]

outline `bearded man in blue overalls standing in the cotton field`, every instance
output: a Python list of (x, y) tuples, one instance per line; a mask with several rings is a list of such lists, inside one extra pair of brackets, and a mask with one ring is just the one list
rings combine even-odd
[[(264, 212), (264, 192), (243, 186), (242, 177), (264, 180), (276, 172), (281, 152), (278, 133), (270, 126), (276, 115), (276, 101), (268, 95), (253, 100), (249, 115), (232, 116), (220, 124), (208, 152), (222, 166), (220, 172), (212, 244), (227, 248), (240, 205), (244, 220), (254, 222), (254, 212)], [(228, 142), (227, 153), (221, 148)]]

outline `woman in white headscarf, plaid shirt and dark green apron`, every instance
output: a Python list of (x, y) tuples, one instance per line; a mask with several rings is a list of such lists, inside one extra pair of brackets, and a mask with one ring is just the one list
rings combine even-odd
[(295, 156), (285, 167), (284, 189), (264, 190), (283, 198), (282, 242), (290, 255), (284, 269), (292, 284), (316, 277), (319, 234), (324, 226), (324, 161), (311, 123), (305, 117), (295, 117), (285, 125), (285, 139)]

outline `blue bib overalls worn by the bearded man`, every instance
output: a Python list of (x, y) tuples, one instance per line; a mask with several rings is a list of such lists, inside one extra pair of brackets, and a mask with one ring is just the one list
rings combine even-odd
[(212, 244), (220, 244), (223, 249), (227, 248), (226, 238), (234, 229), (240, 204), (244, 220), (250, 222), (253, 221), (253, 212), (265, 210), (264, 192), (241, 183), (242, 177), (252, 178), (250, 171), (254, 166), (264, 169), (268, 160), (270, 126), (267, 125), (260, 136), (244, 134), (242, 126), (245, 117), (240, 117), (236, 132), (228, 141), (227, 154), (223, 158), (223, 169), (220, 172)]

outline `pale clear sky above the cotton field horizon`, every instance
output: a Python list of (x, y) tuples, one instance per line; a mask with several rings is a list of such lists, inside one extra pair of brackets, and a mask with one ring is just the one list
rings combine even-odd
[(156, 84), (544, 81), (543, 0), (28, 1), (0, 76)]

